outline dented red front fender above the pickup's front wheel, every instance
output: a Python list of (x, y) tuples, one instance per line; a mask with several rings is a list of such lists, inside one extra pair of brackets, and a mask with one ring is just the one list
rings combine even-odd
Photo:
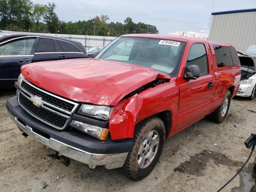
[(132, 138), (136, 124), (152, 115), (164, 111), (172, 114), (171, 128), (167, 138), (172, 135), (176, 126), (178, 111), (179, 86), (177, 78), (159, 84), (121, 100), (110, 115), (109, 130), (112, 140)]

